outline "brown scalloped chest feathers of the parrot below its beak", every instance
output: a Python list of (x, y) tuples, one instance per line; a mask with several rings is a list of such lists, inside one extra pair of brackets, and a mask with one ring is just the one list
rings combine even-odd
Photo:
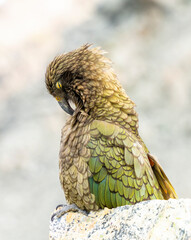
[(81, 208), (95, 205), (94, 197), (90, 193), (88, 178), (91, 176), (88, 162), (90, 149), (87, 144), (90, 140), (90, 127), (66, 125), (62, 130), (60, 148), (60, 182), (66, 199)]

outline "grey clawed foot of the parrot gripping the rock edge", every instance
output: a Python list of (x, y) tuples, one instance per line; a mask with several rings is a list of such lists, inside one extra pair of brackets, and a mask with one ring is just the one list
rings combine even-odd
[(81, 210), (80, 208), (78, 208), (75, 204), (70, 204), (70, 205), (63, 205), (60, 204), (56, 207), (56, 212), (52, 214), (51, 216), (51, 221), (53, 221), (54, 217), (56, 216), (57, 218), (62, 217), (64, 214), (68, 213), (68, 212), (79, 212), (82, 213), (83, 215), (87, 216), (88, 212), (86, 212), (85, 210)]

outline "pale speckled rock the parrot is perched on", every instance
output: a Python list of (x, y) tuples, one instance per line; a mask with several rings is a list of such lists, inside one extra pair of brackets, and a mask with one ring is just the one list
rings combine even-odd
[(105, 208), (88, 216), (68, 212), (50, 222), (51, 240), (191, 239), (191, 199), (151, 200)]

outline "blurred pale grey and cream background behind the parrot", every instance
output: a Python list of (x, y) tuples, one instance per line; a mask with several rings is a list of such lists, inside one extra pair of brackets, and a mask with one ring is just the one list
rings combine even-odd
[(191, 1), (0, 0), (0, 239), (48, 239), (63, 203), (67, 115), (44, 74), (57, 55), (101, 46), (136, 103), (140, 135), (180, 198), (191, 197)]

